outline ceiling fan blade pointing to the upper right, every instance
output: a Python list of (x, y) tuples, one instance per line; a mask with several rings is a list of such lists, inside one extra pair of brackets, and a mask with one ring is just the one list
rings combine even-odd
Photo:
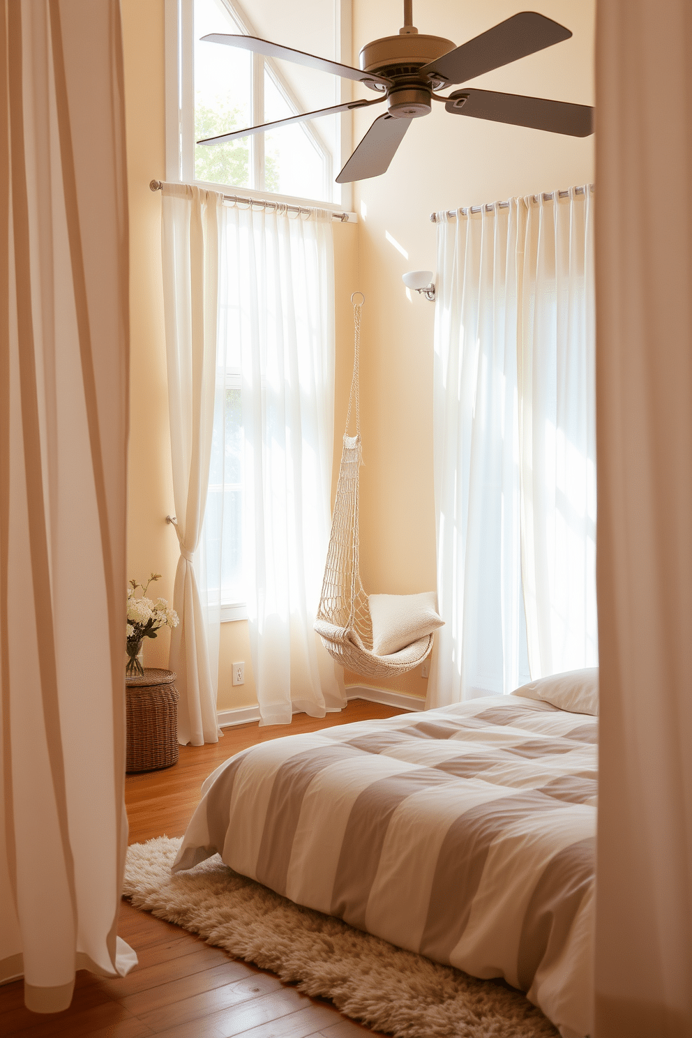
[(534, 10), (523, 10), (418, 71), (447, 83), (466, 83), (492, 69), (569, 39), (571, 35), (569, 29), (552, 19)]

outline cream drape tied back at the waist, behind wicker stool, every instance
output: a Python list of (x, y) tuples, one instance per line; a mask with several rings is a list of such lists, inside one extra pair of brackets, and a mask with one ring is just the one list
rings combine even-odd
[(173, 463), (175, 531), (181, 557), (173, 608), (170, 668), (177, 675), (177, 737), (185, 745), (218, 742), (216, 671), (210, 662), (206, 605), (194, 557), (209, 487), (214, 386), (220, 217), (223, 196), (185, 184), (164, 184), (162, 248), (168, 411)]

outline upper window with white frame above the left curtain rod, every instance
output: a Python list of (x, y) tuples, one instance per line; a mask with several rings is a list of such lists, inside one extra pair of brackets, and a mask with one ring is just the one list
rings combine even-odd
[(167, 53), (177, 54), (176, 66), (172, 57), (167, 64), (167, 179), (343, 204), (334, 177), (350, 145), (350, 120), (342, 125), (340, 116), (220, 144), (196, 142), (350, 100), (348, 80), (201, 38), (246, 34), (337, 59), (343, 49), (350, 61), (350, 39), (341, 31), (349, 0), (297, 0), (290, 6), (253, 0), (251, 13), (238, 0), (167, 4)]

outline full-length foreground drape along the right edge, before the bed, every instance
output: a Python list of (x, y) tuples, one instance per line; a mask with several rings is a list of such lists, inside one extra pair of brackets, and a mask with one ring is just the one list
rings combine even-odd
[(691, 54), (599, 3), (597, 1038), (692, 1035)]

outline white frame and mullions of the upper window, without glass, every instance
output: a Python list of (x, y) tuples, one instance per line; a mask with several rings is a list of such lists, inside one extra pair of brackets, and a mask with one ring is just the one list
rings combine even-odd
[[(335, 55), (337, 61), (350, 64), (352, 61), (352, 0), (332, 0), (334, 4)], [(229, 15), (250, 35), (256, 35), (252, 23), (239, 0), (221, 0)], [(213, 190), (243, 192), (243, 196), (271, 199), (288, 204), (319, 206), (322, 209), (340, 212), (353, 208), (351, 184), (340, 186), (337, 201), (278, 194), (265, 188), (239, 187), (233, 184), (212, 184), (198, 181), (194, 175), (194, 67), (193, 67), (193, 4), (194, 0), (165, 0), (165, 77), (166, 77), (166, 180), (178, 184), (199, 184)], [(297, 107), (297, 99), (283, 79), (272, 58), (252, 54), (251, 104), (253, 121), (255, 113), (264, 107), (264, 74), (269, 73), (277, 89), (292, 107)], [(338, 79), (334, 104), (353, 100), (353, 83)], [(344, 113), (347, 114), (347, 113)], [(337, 134), (336, 153), (332, 156), (319, 131), (319, 120), (304, 124), (312, 144), (325, 155), (325, 177), (332, 182), (343, 165), (345, 157), (353, 151), (353, 116), (340, 117), (340, 132)], [(251, 163), (253, 183), (264, 184), (265, 138), (264, 134), (253, 135), (251, 141)], [(331, 160), (331, 161), (330, 161)], [(330, 168), (331, 167), (331, 168)], [(327, 186), (327, 185), (325, 185)]]

